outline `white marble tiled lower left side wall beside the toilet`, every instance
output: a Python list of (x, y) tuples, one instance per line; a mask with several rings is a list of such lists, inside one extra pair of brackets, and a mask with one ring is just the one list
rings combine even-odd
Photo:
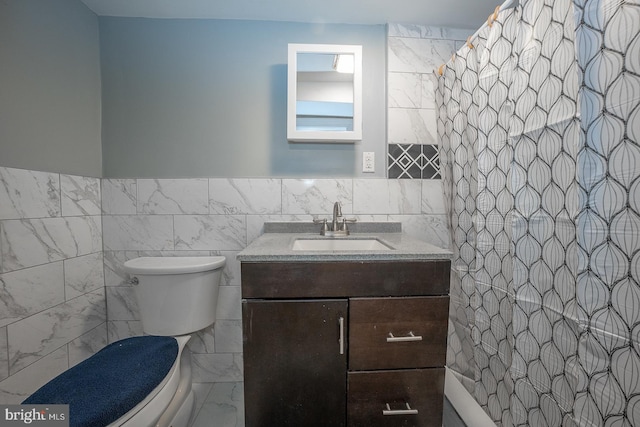
[(0, 403), (107, 343), (98, 178), (0, 167)]

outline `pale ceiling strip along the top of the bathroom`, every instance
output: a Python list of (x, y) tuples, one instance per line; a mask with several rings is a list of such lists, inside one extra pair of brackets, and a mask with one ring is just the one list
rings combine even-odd
[(477, 29), (500, 0), (82, 0), (101, 16), (213, 18)]

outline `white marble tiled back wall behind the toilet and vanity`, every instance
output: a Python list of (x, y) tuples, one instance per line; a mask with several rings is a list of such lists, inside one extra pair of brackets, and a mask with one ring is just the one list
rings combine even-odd
[(142, 333), (127, 259), (143, 255), (224, 255), (217, 320), (190, 343), (196, 382), (242, 381), (240, 265), (236, 254), (266, 221), (343, 214), (399, 221), (403, 229), (449, 246), (440, 180), (103, 179), (105, 285), (109, 341)]

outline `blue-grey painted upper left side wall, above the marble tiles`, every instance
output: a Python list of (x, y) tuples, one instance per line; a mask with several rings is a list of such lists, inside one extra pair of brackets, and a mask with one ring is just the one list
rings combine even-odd
[(0, 1), (0, 166), (101, 176), (99, 49), (79, 0)]

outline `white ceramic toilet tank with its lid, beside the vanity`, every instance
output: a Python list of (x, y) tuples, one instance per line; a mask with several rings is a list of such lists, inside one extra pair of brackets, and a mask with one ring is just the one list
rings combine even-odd
[(142, 257), (124, 263), (137, 278), (134, 291), (142, 329), (150, 335), (185, 335), (216, 319), (222, 256)]

